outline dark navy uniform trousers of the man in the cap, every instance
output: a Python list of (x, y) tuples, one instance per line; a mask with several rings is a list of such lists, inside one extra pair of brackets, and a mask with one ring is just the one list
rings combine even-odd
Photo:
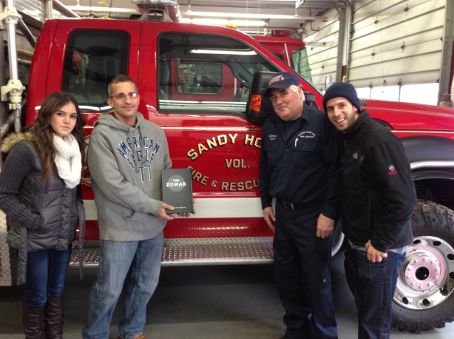
[(331, 235), (316, 236), (319, 208), (276, 203), (274, 268), (289, 339), (337, 338), (331, 295)]

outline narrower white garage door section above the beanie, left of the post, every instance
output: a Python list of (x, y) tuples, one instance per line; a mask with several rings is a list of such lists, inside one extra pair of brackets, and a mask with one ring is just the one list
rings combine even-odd
[[(312, 13), (315, 14), (315, 11)], [(303, 41), (307, 43), (310, 75), (313, 85), (318, 90), (325, 90), (325, 78), (331, 75), (336, 79), (337, 43), (339, 36), (339, 15), (330, 10), (323, 14), (327, 22), (313, 21), (306, 23)]]

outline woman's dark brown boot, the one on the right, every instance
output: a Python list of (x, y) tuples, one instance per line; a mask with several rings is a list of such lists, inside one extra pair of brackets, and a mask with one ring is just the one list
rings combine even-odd
[(48, 297), (44, 313), (45, 339), (63, 338), (63, 294)]

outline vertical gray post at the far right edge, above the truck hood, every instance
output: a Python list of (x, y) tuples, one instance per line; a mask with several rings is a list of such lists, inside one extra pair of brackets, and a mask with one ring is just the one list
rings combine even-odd
[(453, 58), (454, 39), (454, 1), (446, 0), (445, 26), (443, 28), (443, 47), (441, 49), (440, 87), (438, 87), (438, 102), (443, 94), (449, 93), (449, 78), (451, 60)]

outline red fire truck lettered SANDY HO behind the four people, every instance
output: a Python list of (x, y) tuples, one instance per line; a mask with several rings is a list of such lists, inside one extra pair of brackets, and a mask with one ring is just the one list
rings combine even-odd
[[(261, 94), (266, 76), (280, 70), (294, 72), (254, 38), (230, 28), (49, 20), (33, 55), (23, 114), (31, 124), (46, 95), (70, 92), (87, 119), (90, 144), (99, 114), (112, 112), (107, 84), (129, 75), (141, 95), (139, 112), (166, 132), (173, 167), (193, 171), (198, 212), (168, 222), (163, 265), (271, 262), (273, 233), (259, 198), (261, 130), (270, 105)], [(301, 87), (306, 104), (322, 107), (323, 95), (304, 77)], [(420, 199), (413, 215), (415, 240), (394, 296), (393, 328), (443, 327), (454, 320), (454, 109), (377, 100), (362, 105), (403, 141)], [(149, 168), (140, 170), (147, 176)], [(90, 266), (97, 264), (99, 232), (88, 171), (83, 190)], [(333, 254), (343, 240), (338, 221)]]

